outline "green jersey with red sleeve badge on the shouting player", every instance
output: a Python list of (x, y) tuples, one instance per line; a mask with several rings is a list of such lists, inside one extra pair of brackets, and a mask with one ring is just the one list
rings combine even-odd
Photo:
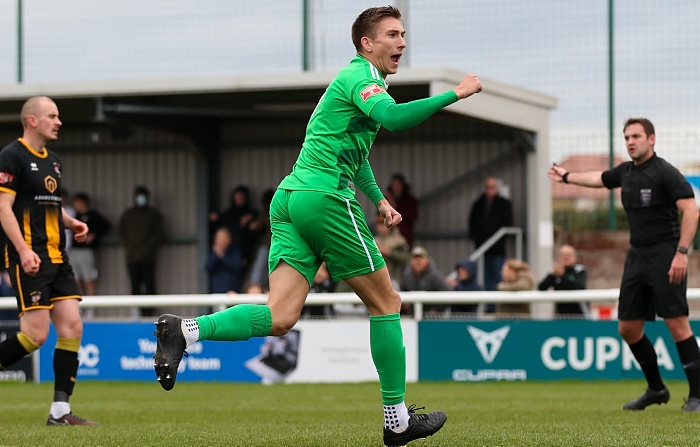
[(393, 99), (383, 76), (357, 55), (330, 83), (306, 128), (306, 138), (281, 189), (323, 191), (354, 197), (358, 187), (375, 205), (383, 198), (369, 165), (380, 124), (373, 107)]

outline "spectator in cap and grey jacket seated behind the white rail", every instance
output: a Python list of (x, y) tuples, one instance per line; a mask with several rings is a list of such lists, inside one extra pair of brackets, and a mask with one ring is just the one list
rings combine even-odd
[[(444, 279), (445, 275), (440, 273), (435, 261), (430, 258), (428, 250), (420, 245), (411, 250), (411, 260), (404, 269), (401, 281), (401, 289), (406, 291), (425, 290), (429, 292), (452, 290)], [(413, 315), (413, 306), (409, 303), (402, 303), (402, 313)], [(445, 306), (429, 304), (423, 306), (425, 314), (437, 314), (444, 312)]]

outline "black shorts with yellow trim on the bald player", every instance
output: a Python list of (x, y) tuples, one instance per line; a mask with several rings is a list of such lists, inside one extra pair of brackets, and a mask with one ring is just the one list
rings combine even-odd
[(51, 264), (43, 260), (34, 276), (27, 275), (20, 264), (13, 262), (8, 273), (20, 315), (28, 310), (52, 309), (54, 301), (82, 299), (73, 268), (67, 262)]

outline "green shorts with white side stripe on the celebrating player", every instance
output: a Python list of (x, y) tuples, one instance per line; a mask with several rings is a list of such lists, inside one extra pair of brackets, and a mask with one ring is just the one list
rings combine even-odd
[(333, 281), (384, 267), (355, 199), (319, 191), (278, 189), (270, 204), (270, 273), (281, 260), (313, 283), (322, 261)]

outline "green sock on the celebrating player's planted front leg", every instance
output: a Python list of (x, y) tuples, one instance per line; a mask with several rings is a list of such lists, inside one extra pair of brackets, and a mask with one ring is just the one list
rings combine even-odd
[(379, 373), (382, 403), (400, 404), (406, 394), (406, 347), (400, 315), (370, 316), (369, 345)]

